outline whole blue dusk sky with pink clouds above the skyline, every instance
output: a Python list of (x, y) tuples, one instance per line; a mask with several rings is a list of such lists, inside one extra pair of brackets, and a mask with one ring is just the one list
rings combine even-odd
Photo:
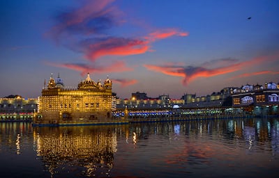
[(0, 1), (0, 97), (38, 97), (112, 79), (132, 92), (180, 99), (279, 82), (279, 1)]

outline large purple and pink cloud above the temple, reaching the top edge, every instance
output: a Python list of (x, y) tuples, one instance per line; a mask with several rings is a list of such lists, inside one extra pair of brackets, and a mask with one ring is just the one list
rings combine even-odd
[(63, 42), (69, 49), (82, 52), (91, 61), (102, 56), (130, 56), (144, 54), (151, 43), (174, 35), (186, 36), (187, 32), (176, 29), (160, 29), (149, 35), (123, 38), (107, 35), (107, 31), (125, 20), (123, 13), (113, 5), (112, 0), (85, 1), (83, 6), (65, 10), (56, 16), (57, 24), (48, 35), (56, 42)]

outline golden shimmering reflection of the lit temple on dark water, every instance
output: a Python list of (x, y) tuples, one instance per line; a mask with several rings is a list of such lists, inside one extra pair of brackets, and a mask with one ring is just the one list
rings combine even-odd
[[(107, 176), (113, 167), (116, 133), (121, 127), (39, 127), (33, 138), (37, 156), (51, 175), (73, 172)], [(51, 131), (50, 131), (51, 130)], [(79, 167), (79, 168), (76, 168)]]

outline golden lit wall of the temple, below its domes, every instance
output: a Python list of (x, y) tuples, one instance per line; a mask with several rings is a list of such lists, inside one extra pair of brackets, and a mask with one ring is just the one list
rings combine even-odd
[[(50, 96), (50, 93), (57, 95)], [(112, 115), (111, 92), (95, 92), (86, 90), (63, 90), (61, 88), (46, 89), (39, 97), (39, 113), (47, 123), (61, 120), (89, 121), (110, 118)], [(54, 91), (58, 90), (58, 91)]]

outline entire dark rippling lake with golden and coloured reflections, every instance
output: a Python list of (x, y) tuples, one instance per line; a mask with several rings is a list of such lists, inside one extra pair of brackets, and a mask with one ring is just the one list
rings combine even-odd
[(279, 177), (279, 118), (0, 123), (0, 177)]

